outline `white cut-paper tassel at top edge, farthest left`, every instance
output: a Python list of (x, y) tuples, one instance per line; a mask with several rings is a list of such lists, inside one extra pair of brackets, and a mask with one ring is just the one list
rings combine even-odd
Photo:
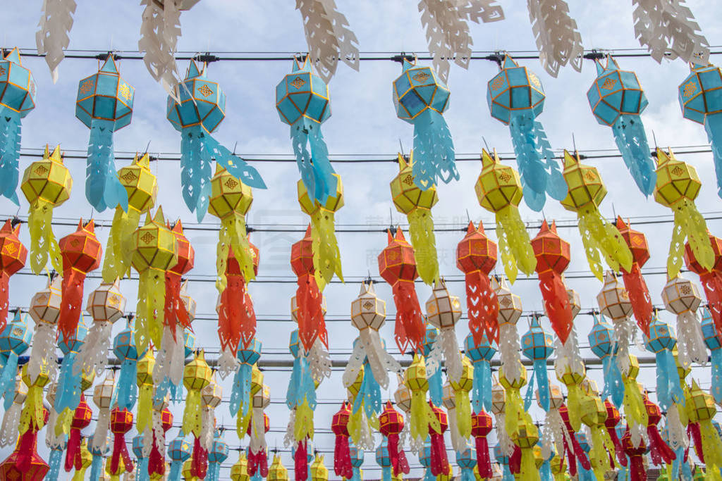
[(70, 29), (73, 27), (75, 0), (44, 0), (43, 14), (35, 33), (38, 53), (45, 54), (45, 63), (50, 67), (53, 83), (58, 81), (58, 65), (65, 58), (63, 50), (70, 44)]

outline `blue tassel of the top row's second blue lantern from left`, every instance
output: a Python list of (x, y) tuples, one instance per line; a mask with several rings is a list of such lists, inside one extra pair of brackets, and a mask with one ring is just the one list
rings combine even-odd
[(116, 206), (120, 206), (123, 211), (128, 210), (128, 193), (116, 173), (113, 130), (113, 120), (91, 120), (85, 198), (99, 212)]

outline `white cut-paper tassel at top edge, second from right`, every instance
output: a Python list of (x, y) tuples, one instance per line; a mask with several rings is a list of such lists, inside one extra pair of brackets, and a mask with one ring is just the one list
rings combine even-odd
[(534, 32), (539, 61), (544, 70), (553, 77), (567, 63), (576, 71), (582, 69), (582, 36), (577, 22), (569, 15), (564, 0), (527, 0), (531, 31)]

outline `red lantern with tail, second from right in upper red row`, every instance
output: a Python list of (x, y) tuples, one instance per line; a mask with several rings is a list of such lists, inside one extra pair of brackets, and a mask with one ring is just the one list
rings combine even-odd
[(632, 312), (634, 312), (634, 317), (637, 319), (637, 325), (645, 335), (649, 335), (653, 306), (652, 299), (649, 296), (649, 288), (642, 277), (642, 267), (649, 260), (647, 237), (640, 231), (633, 230), (630, 224), (625, 224), (622, 217), (617, 217), (617, 229), (627, 242), (627, 247), (632, 251), (632, 259), (634, 260), (629, 272), (620, 266), (622, 279), (625, 281), (625, 288), (630, 296)]

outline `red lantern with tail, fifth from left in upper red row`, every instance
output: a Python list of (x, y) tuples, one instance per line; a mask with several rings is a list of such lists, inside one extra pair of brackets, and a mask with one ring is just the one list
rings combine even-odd
[(316, 339), (329, 347), (326, 322), (323, 320), (323, 297), (316, 283), (316, 268), (313, 267), (313, 239), (311, 226), (300, 241), (291, 246), (291, 268), (298, 276), (296, 302), (298, 306), (298, 337), (305, 350), (310, 350)]

